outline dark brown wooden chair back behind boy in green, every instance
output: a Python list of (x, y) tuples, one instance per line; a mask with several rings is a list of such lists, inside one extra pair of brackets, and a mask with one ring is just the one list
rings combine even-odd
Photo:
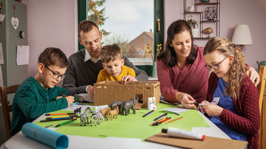
[(8, 105), (7, 103), (7, 95), (15, 93), (20, 85), (12, 85), (10, 87), (0, 87), (0, 94), (1, 94), (1, 102), (2, 102), (2, 109), (3, 109), (3, 115), (4, 115), (4, 122), (6, 127), (6, 134), (7, 139), (10, 138), (9, 131), (11, 126), (11, 120), (9, 112), (12, 112), (12, 105)]

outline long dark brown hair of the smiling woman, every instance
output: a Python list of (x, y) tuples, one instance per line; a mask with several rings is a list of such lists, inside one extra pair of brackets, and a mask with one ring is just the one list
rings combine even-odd
[(163, 59), (164, 64), (168, 67), (173, 67), (177, 64), (176, 53), (173, 47), (170, 46), (172, 44), (172, 40), (174, 39), (176, 34), (188, 31), (191, 37), (191, 50), (189, 56), (186, 58), (187, 64), (193, 64), (197, 57), (197, 50), (194, 47), (194, 38), (192, 36), (191, 27), (185, 20), (177, 20), (171, 23), (171, 25), (167, 29), (167, 39), (165, 43), (165, 50), (160, 52), (157, 59)]

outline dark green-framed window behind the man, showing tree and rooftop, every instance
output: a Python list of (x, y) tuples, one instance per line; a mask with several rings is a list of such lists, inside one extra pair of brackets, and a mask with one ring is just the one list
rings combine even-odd
[[(137, 67), (152, 65), (154, 49), (163, 44), (163, 0), (79, 0), (78, 23), (85, 19), (98, 24), (103, 45), (118, 44)], [(79, 50), (83, 48), (79, 44)]]

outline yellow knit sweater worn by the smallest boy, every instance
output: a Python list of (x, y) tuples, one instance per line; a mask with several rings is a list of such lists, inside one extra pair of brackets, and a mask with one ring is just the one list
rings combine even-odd
[(121, 81), (122, 76), (131, 75), (132, 77), (136, 77), (135, 71), (132, 68), (122, 66), (122, 72), (116, 77), (108, 74), (106, 69), (102, 69), (97, 77), (97, 83), (101, 81)]

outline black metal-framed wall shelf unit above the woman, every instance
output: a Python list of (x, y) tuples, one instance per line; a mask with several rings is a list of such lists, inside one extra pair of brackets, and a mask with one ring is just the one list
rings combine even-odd
[[(195, 6), (195, 9), (194, 9), (194, 12), (189, 12), (189, 11), (186, 11), (186, 1), (187, 0), (184, 0), (184, 20), (187, 20), (186, 19), (186, 14), (200, 14), (200, 37), (194, 37), (195, 39), (210, 39), (210, 38), (207, 38), (207, 37), (202, 37), (203, 34), (202, 34), (202, 31), (203, 31), (203, 23), (216, 23), (216, 36), (220, 36), (220, 0), (216, 0), (215, 3), (200, 3), (198, 1), (201, 1), (201, 0), (194, 0), (194, 6)], [(217, 9), (217, 20), (203, 20), (203, 13), (204, 13), (204, 10), (203, 11), (198, 11), (198, 5), (216, 5), (216, 9)], [(213, 29), (215, 30), (215, 29)]]

